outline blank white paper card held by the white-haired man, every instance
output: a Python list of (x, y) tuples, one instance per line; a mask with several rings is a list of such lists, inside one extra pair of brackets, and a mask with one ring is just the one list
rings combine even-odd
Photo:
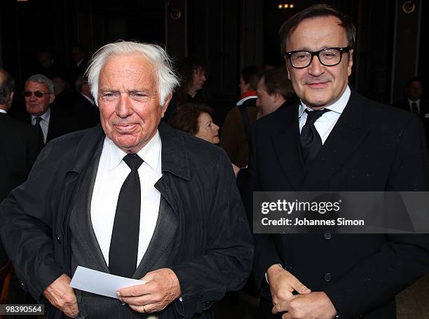
[(70, 287), (118, 299), (116, 292), (119, 289), (144, 283), (146, 283), (144, 280), (115, 276), (78, 266), (73, 278), (71, 278)]

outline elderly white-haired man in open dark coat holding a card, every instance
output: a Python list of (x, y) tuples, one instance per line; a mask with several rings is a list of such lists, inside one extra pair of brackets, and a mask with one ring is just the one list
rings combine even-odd
[[(88, 80), (101, 126), (50, 142), (0, 207), (22, 286), (46, 318), (212, 318), (253, 254), (228, 157), (160, 123), (177, 85), (163, 48), (110, 43)], [(119, 301), (73, 290), (77, 266), (145, 283)]]

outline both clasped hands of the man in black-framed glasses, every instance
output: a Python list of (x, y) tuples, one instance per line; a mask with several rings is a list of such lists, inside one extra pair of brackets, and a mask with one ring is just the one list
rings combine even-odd
[[(271, 296), (273, 313), (283, 313), (282, 319), (332, 319), (336, 309), (325, 292), (311, 292), (289, 271), (278, 264), (266, 272)], [(299, 294), (293, 294), (293, 292)]]

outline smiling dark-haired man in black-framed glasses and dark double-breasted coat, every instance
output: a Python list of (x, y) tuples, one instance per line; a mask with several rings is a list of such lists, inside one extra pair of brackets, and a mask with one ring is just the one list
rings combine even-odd
[[(348, 86), (351, 20), (311, 6), (280, 29), (300, 98), (255, 123), (253, 191), (427, 191), (419, 119)], [(395, 294), (428, 272), (427, 235), (255, 235), (258, 318), (396, 318)], [(271, 313), (273, 311), (274, 314)]]

